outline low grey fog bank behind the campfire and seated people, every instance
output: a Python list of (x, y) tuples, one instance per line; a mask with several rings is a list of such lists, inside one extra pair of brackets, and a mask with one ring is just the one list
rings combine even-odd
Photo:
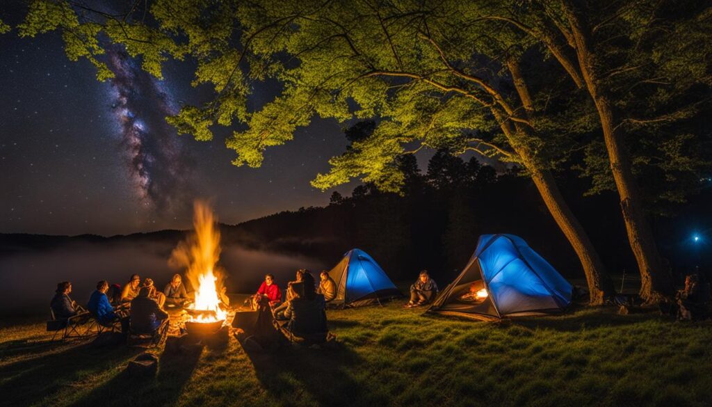
[[(168, 243), (83, 243), (52, 250), (33, 250), (0, 257), (0, 314), (11, 312), (49, 314), (49, 302), (56, 284), (72, 282), (70, 297), (85, 304), (96, 282), (124, 284), (132, 273), (150, 277), (163, 289), (172, 274), (182, 269), (169, 266), (174, 247)], [(280, 287), (294, 279), (295, 270), (318, 272), (333, 264), (318, 259), (258, 252), (237, 245), (222, 248), (219, 265), (226, 271), (229, 293), (256, 292), (264, 274), (276, 277)]]

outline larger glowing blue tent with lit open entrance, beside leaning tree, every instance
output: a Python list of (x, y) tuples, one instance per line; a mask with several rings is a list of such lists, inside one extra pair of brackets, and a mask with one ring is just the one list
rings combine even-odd
[[(464, 296), (470, 286), (481, 294)], [(554, 267), (514, 235), (482, 235), (460, 275), (429, 311), (476, 319), (550, 314), (571, 303), (572, 286)]]

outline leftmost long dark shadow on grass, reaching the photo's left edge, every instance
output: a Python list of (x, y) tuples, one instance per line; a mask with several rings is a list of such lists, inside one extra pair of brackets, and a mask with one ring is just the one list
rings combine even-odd
[(46, 350), (42, 346), (47, 344), (15, 349), (14, 356), (21, 360), (0, 369), (0, 394), (8, 406), (46, 405), (51, 401), (46, 398), (58, 391), (115, 369), (138, 353), (125, 346), (98, 349), (83, 342), (62, 351), (33, 357), (38, 351)]

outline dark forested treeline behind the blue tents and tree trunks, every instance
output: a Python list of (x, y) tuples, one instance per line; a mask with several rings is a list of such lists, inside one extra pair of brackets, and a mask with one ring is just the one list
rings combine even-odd
[[(243, 237), (261, 242), (263, 249), (306, 252), (329, 264), (347, 249), (360, 247), (394, 279), (414, 278), (419, 269), (449, 279), (464, 267), (479, 235), (512, 233), (526, 239), (562, 274), (583, 278), (575, 253), (528, 177), (515, 170), (497, 173), (476, 158), (463, 160), (445, 150), (431, 158), (425, 173), (412, 155), (400, 158), (399, 165), (405, 173), (402, 195), (360, 185), (351, 197), (333, 192), (328, 207), (280, 212), (238, 228)], [(561, 177), (566, 199), (609, 271), (637, 274), (617, 197), (610, 192), (583, 197), (585, 180)], [(704, 216), (706, 195), (697, 197), (696, 205), (686, 205), (684, 215), (656, 217), (654, 222), (676, 274), (700, 260), (699, 247), (693, 247), (685, 234), (693, 228), (689, 224), (696, 214)]]

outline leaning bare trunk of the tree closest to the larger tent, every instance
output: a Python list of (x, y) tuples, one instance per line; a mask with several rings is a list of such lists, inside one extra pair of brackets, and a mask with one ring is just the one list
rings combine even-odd
[(519, 155), (523, 165), (529, 170), (534, 185), (544, 200), (549, 213), (579, 257), (590, 293), (589, 304), (602, 305), (605, 299), (615, 294), (615, 289), (591, 240), (561, 195), (551, 172), (539, 170), (533, 153), (528, 148), (517, 143), (515, 133), (527, 132), (528, 130), (523, 128), (515, 130), (511, 127), (511, 122), (504, 120), (501, 113), (497, 110), (493, 110), (493, 113), (498, 122), (501, 123), (501, 128), (515, 153)]

